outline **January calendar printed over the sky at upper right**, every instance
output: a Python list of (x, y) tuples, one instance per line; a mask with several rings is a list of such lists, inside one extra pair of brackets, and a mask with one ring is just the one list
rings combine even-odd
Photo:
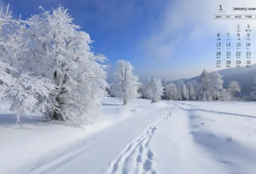
[(253, 40), (256, 38), (256, 30), (252, 27), (256, 22), (256, 8), (234, 7), (228, 10), (230, 11), (232, 14), (227, 13), (227, 10), (220, 5), (218, 13), (214, 14), (214, 20), (221, 22), (232, 20), (233, 24), (230, 31), (216, 33), (216, 67), (250, 68), (252, 61), (256, 59), (256, 44)]

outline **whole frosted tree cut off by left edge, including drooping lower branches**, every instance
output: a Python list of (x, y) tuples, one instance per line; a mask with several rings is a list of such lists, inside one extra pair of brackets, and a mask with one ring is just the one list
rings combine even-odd
[(45, 78), (34, 77), (19, 67), (20, 60), (28, 56), (26, 21), (12, 19), (12, 12), (0, 10), (0, 98), (11, 104), (11, 111), (29, 116), (35, 111), (45, 111), (48, 104), (42, 102), (54, 93), (56, 86)]

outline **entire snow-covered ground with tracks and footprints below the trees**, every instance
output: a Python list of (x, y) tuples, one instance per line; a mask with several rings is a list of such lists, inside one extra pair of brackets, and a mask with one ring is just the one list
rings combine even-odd
[(0, 115), (0, 173), (256, 173), (255, 102), (109, 98), (83, 129)]

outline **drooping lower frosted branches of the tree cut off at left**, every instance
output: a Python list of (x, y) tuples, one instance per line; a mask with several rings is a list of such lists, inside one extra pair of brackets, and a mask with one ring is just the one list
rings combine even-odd
[(44, 102), (44, 99), (54, 92), (56, 86), (49, 80), (22, 74), (12, 86), (8, 86), (5, 99), (12, 101), (10, 111), (17, 113), (17, 121), (20, 115), (31, 116), (35, 111), (45, 113), (46, 107), (54, 107)]

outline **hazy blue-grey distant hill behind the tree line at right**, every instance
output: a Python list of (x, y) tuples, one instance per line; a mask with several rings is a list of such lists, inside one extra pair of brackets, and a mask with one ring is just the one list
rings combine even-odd
[[(225, 70), (218, 70), (218, 72), (223, 75), (222, 79), (224, 81), (223, 87), (227, 88), (230, 81), (237, 81), (241, 86), (241, 95), (246, 95), (252, 91), (255, 91), (252, 87), (256, 87), (253, 84), (253, 80), (256, 77), (256, 64), (251, 65), (250, 68), (228, 68)], [(180, 79), (187, 83), (189, 80), (200, 81), (200, 75), (193, 77), (191, 79)], [(179, 80), (179, 81), (180, 81)], [(177, 83), (178, 81), (173, 81), (172, 83)]]

